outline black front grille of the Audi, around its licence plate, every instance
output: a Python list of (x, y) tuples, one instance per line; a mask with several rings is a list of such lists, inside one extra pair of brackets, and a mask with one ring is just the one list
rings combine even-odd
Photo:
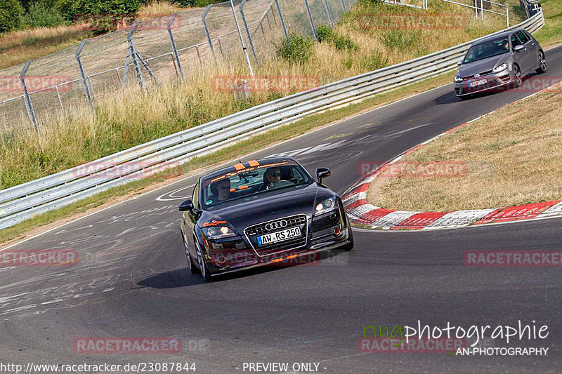
[[(282, 228), (268, 229), (268, 224), (279, 222), (285, 220), (287, 222), (286, 226)], [(280, 231), (280, 229), (290, 229), (291, 227), (300, 227), (301, 235), (295, 238), (291, 238), (285, 241), (275, 242), (266, 244), (265, 246), (258, 245), (257, 237), (263, 234), (268, 234), (270, 232)], [(274, 253), (279, 253), (282, 251), (289, 251), (290, 249), (299, 248), (306, 245), (306, 237), (308, 234), (308, 229), (306, 225), (306, 215), (292, 215), (286, 218), (278, 218), (277, 220), (271, 220), (266, 222), (261, 222), (257, 225), (249, 226), (244, 229), (244, 234), (246, 234), (247, 239), (251, 243), (252, 248), (256, 253), (263, 257), (268, 255), (273, 255)]]

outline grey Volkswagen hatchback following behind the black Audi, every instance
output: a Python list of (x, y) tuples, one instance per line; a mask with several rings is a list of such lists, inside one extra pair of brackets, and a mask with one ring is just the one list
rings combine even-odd
[(519, 87), (524, 76), (547, 71), (542, 47), (525, 29), (476, 41), (458, 65), (455, 93), (462, 99), (473, 93)]

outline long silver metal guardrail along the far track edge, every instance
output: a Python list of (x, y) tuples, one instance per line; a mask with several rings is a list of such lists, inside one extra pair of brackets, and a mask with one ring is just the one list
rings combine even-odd
[[(535, 32), (543, 25), (541, 12), (499, 32), (516, 28)], [(132, 178), (142, 178), (147, 170), (174, 167), (194, 156), (208, 154), (309, 114), (348, 105), (376, 93), (450, 71), (457, 67), (457, 61), (476, 40), (257, 105), (86, 163), (85, 166), (4, 189), (0, 191), (0, 229), (123, 185)]]

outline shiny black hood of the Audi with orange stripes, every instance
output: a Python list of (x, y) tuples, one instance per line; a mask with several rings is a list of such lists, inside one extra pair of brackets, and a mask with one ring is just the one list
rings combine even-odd
[(204, 211), (199, 222), (226, 221), (229, 226), (242, 233), (245, 227), (289, 215), (306, 214), (307, 218), (311, 218), (315, 202), (335, 194), (325, 187), (312, 183), (308, 186), (280, 189), (254, 196), (258, 198), (249, 201), (241, 199), (240, 203), (217, 211)]

